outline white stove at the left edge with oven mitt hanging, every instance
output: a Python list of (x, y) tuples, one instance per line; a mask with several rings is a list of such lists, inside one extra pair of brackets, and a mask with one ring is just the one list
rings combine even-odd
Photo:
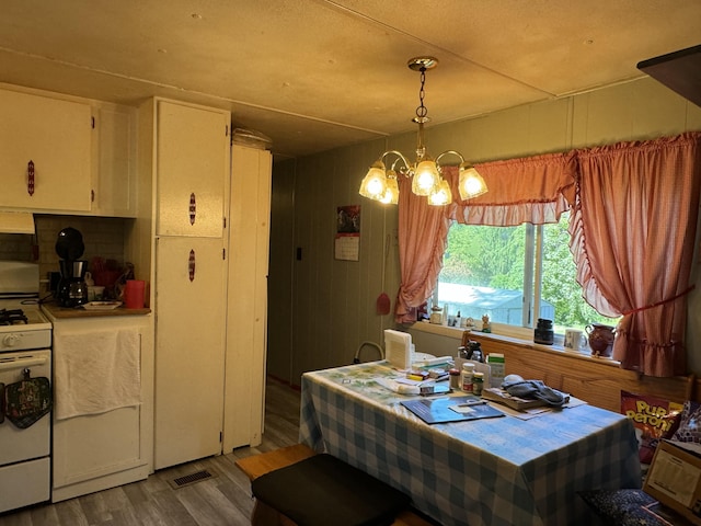
[[(35, 276), (31, 289), (26, 288), (28, 275)], [(16, 386), (35, 378), (51, 381), (51, 323), (39, 310), (38, 266), (0, 262), (3, 400), (9, 400), (9, 392), (26, 392)], [(0, 413), (0, 513), (50, 499), (51, 414), (38, 418), (41, 413), (35, 413), (38, 420), (27, 425), (16, 413), (10, 414), (9, 402), (5, 405), (5, 413)]]

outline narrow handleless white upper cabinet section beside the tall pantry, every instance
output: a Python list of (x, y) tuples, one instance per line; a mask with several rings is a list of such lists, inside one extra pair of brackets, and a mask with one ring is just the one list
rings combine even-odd
[(101, 104), (93, 115), (92, 213), (136, 217), (137, 110)]

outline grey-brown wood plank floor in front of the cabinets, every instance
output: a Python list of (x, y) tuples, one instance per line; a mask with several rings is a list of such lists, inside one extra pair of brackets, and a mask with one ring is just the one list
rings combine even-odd
[[(162, 469), (147, 480), (0, 515), (0, 526), (238, 526), (250, 525), (249, 478), (238, 458), (298, 442), (299, 391), (269, 379), (265, 432), (256, 447)], [(173, 479), (207, 470), (212, 477), (173, 489)], [(1, 498), (1, 495), (0, 495)]]

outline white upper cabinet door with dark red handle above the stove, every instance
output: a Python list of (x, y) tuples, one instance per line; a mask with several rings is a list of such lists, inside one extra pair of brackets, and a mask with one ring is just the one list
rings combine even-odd
[(88, 104), (3, 90), (0, 123), (0, 206), (90, 210)]

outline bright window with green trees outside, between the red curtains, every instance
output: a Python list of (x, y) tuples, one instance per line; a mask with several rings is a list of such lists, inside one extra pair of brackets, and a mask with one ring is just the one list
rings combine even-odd
[(485, 227), (453, 224), (434, 301), (450, 316), (533, 328), (553, 320), (556, 333), (588, 323), (616, 324), (582, 298), (570, 253), (568, 213), (554, 225)]

